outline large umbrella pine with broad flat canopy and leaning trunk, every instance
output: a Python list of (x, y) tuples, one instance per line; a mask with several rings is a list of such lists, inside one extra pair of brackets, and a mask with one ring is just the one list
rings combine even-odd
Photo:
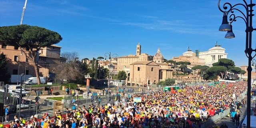
[[(21, 47), (22, 53), (32, 62), (38, 84), (40, 84), (36, 61), (38, 51), (40, 48), (57, 44), (62, 40), (62, 37), (57, 32), (38, 26), (17, 25), (0, 27), (0, 40), (7, 45), (16, 44)], [(29, 54), (23, 48), (28, 48)]]

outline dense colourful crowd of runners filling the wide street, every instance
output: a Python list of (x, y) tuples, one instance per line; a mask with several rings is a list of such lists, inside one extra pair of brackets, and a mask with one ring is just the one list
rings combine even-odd
[[(186, 86), (183, 89), (134, 94), (114, 104), (66, 108), (40, 121), (16, 117), (6, 128), (196, 128), (228, 108), (246, 90), (246, 82)], [(141, 102), (134, 102), (140, 98)], [(235, 106), (234, 106), (235, 107)], [(52, 119), (53, 118), (53, 119)]]

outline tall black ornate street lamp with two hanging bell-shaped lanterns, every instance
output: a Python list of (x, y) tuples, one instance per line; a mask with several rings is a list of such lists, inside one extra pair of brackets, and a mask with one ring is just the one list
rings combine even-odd
[[(222, 24), (219, 28), (220, 31), (228, 31), (228, 33), (225, 35), (225, 38), (234, 38), (234, 33), (232, 32), (232, 22), (236, 22), (236, 18), (241, 18), (244, 20), (246, 24), (246, 47), (245, 47), (245, 54), (248, 58), (248, 80), (247, 80), (247, 128), (250, 128), (250, 105), (251, 105), (251, 77), (252, 77), (252, 66), (251, 66), (251, 61), (255, 57), (252, 56), (252, 52), (256, 52), (256, 49), (252, 49), (252, 31), (256, 30), (256, 28), (252, 27), (252, 17), (254, 14), (252, 12), (252, 7), (255, 6), (256, 4), (252, 3), (252, 0), (250, 0), (250, 3), (247, 4), (245, 0), (243, 0), (242, 4), (230, 4), (228, 2), (224, 3), (223, 6), (220, 6), (220, 0), (218, 1), (218, 8), (221, 12), (223, 12), (223, 18), (222, 18)], [(237, 7), (242, 7), (245, 9), (245, 13), (241, 10), (239, 10)], [(240, 12), (241, 16), (236, 16), (234, 14), (234, 11)], [(228, 23), (228, 13), (231, 13), (229, 16), (229, 24)], [(232, 34), (233, 33), (233, 34)]]

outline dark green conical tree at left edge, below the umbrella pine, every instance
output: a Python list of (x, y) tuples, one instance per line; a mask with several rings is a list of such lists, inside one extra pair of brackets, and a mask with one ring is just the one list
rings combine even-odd
[(10, 77), (10, 74), (7, 71), (6, 67), (6, 55), (4, 53), (0, 54), (0, 81), (2, 82), (8, 82), (8, 78)]

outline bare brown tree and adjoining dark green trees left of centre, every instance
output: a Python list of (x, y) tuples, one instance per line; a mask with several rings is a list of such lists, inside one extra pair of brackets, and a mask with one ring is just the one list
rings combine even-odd
[(56, 74), (58, 79), (67, 80), (67, 82), (84, 83), (84, 75), (88, 73), (94, 79), (104, 79), (108, 76), (108, 69), (100, 66), (98, 59), (93, 58), (91, 66), (88, 66), (85, 61), (89, 59), (83, 58), (84, 62), (81, 62), (77, 52), (63, 52), (61, 56), (66, 58), (66, 62), (60, 62), (57, 66)]

